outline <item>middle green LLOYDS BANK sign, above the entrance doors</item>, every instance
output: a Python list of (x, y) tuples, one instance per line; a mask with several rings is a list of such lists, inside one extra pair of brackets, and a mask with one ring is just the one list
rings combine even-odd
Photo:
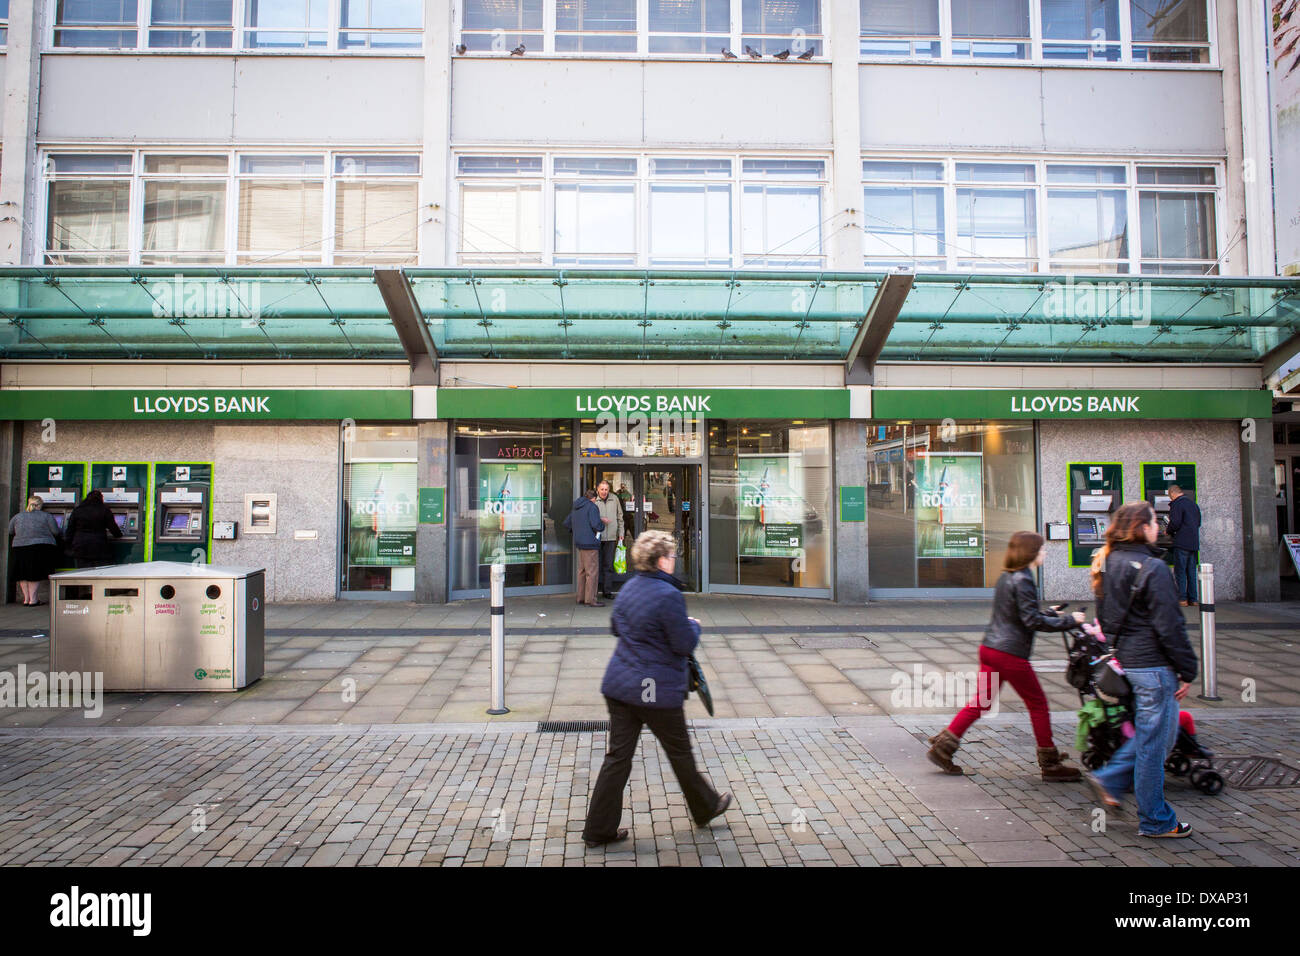
[(846, 419), (848, 389), (438, 389), (438, 418)]

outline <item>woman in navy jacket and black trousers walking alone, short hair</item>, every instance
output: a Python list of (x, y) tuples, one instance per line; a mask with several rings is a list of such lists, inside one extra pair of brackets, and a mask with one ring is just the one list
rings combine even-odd
[(697, 826), (707, 826), (731, 805), (731, 793), (718, 796), (690, 753), (682, 705), (686, 658), (699, 643), (699, 622), (686, 617), (686, 600), (672, 576), (677, 545), (667, 532), (647, 531), (633, 542), (630, 561), (637, 574), (619, 589), (610, 617), (610, 630), (619, 639), (601, 683), (610, 709), (610, 749), (582, 829), (588, 847), (628, 836), (619, 821), (642, 724), (668, 754)]

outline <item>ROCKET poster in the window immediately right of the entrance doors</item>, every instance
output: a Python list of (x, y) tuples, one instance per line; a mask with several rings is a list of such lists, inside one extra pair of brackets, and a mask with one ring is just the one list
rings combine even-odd
[(803, 460), (797, 453), (740, 457), (740, 555), (803, 553)]

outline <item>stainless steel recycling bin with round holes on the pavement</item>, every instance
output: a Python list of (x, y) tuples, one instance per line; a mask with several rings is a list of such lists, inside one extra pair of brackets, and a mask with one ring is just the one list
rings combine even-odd
[(49, 670), (105, 691), (238, 691), (265, 652), (265, 570), (151, 561), (49, 576)]

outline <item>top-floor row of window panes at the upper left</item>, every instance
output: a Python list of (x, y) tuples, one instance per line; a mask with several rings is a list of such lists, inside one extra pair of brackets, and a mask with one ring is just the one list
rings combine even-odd
[(55, 0), (55, 47), (419, 49), (420, 0)]

